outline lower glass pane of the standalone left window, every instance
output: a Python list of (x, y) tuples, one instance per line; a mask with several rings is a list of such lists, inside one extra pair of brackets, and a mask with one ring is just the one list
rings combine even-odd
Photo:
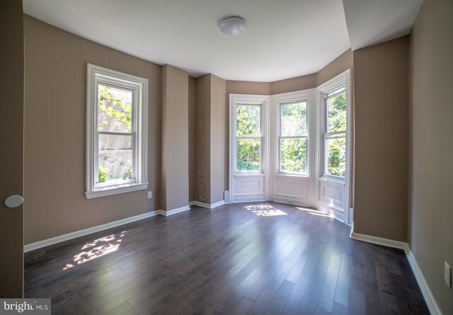
[(98, 182), (132, 178), (132, 136), (99, 134)]

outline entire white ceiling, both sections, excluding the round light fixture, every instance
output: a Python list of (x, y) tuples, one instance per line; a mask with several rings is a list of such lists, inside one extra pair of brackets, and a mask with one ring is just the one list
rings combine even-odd
[[(342, 0), (23, 0), (23, 11), (195, 77), (277, 81), (319, 71), (350, 38), (357, 49), (407, 34), (421, 1), (344, 0), (346, 16)], [(220, 33), (228, 16), (245, 18), (246, 31)]]

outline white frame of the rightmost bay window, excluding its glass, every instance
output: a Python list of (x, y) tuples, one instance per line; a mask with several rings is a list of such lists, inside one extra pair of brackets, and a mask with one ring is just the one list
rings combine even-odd
[[(350, 146), (350, 100), (349, 100), (349, 74), (342, 74), (338, 78), (334, 78), (329, 86), (320, 88), (321, 93), (321, 179), (328, 179), (338, 183), (345, 183), (348, 176), (348, 155)], [(328, 94), (336, 92), (340, 89), (344, 91), (335, 93), (328, 97)], [(328, 132), (328, 99), (345, 93), (346, 97), (346, 129), (344, 131)], [(341, 134), (342, 136), (338, 137)], [(329, 139), (345, 139), (345, 176), (338, 176), (328, 173), (328, 140)]]

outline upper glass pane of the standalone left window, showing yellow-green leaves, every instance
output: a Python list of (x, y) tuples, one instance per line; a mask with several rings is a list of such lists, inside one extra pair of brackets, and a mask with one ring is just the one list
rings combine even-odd
[(98, 131), (132, 132), (132, 91), (98, 84)]

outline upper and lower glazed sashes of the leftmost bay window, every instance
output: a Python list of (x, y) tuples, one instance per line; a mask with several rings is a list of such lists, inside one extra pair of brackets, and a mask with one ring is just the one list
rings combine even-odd
[(261, 171), (262, 106), (236, 105), (236, 172)]

